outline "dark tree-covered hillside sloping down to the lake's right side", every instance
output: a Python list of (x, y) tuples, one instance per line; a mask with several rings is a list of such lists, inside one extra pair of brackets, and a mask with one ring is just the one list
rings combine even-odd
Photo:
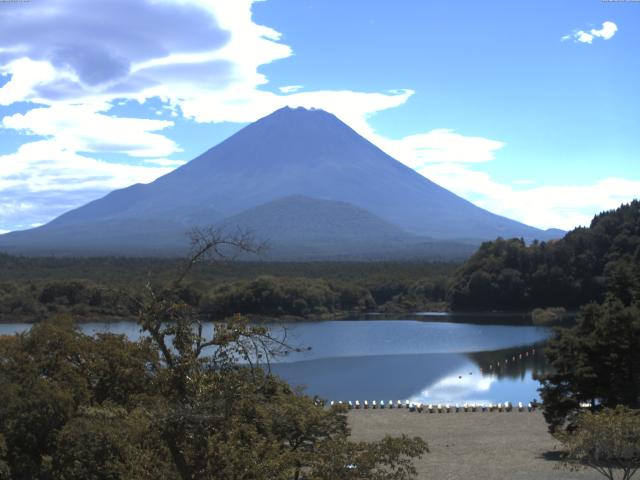
[(452, 310), (520, 310), (601, 302), (629, 305), (640, 295), (640, 201), (597, 215), (563, 239), (497, 239), (456, 272)]

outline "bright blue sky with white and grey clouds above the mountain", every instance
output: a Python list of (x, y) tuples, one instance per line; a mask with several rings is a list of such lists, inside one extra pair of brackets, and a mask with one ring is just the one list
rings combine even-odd
[(640, 2), (33, 0), (0, 31), (0, 231), (287, 104), (534, 226), (639, 196)]

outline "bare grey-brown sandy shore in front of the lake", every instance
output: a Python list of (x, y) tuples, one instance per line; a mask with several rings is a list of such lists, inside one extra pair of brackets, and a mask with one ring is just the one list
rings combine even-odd
[(558, 469), (557, 442), (540, 412), (416, 413), (352, 410), (354, 440), (422, 437), (430, 453), (416, 462), (420, 479), (591, 480), (599, 474)]

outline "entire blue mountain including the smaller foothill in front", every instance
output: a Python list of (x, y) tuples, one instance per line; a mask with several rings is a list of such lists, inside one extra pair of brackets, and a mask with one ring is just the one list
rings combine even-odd
[(0, 249), (179, 254), (189, 227), (234, 222), (268, 235), (285, 256), (287, 249), (317, 257), (353, 248), (393, 254), (409, 245), (470, 245), (498, 236), (546, 240), (560, 233), (473, 205), (330, 113), (286, 107), (150, 184), (116, 190), (42, 227), (2, 235)]

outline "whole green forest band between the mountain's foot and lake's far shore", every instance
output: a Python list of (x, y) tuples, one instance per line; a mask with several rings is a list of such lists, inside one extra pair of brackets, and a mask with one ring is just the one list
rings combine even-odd
[[(127, 269), (123, 261), (0, 255), (6, 267), (0, 268), (0, 320), (37, 321), (58, 314), (132, 318), (135, 304), (122, 293), (139, 295), (147, 282), (166, 283), (183, 265), (169, 259), (128, 259), (132, 266)], [(234, 313), (317, 318), (442, 309), (453, 269), (439, 263), (203, 262), (182, 288), (189, 303), (215, 318)]]

